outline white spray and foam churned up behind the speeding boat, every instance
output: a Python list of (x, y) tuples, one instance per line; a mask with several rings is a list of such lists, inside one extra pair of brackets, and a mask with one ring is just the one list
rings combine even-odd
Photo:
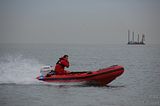
[(36, 59), (26, 59), (22, 55), (0, 57), (0, 84), (35, 84), (40, 64)]

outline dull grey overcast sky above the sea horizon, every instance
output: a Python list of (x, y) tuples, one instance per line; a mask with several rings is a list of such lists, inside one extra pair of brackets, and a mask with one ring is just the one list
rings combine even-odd
[(0, 43), (127, 43), (128, 29), (160, 43), (160, 0), (0, 0)]

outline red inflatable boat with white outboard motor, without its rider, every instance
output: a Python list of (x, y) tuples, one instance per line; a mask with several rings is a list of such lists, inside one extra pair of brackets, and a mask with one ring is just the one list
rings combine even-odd
[(70, 72), (66, 75), (48, 75), (52, 69), (51, 66), (43, 66), (40, 70), (41, 75), (37, 79), (46, 82), (84, 82), (91, 85), (106, 85), (124, 72), (122, 66), (113, 65), (97, 71)]

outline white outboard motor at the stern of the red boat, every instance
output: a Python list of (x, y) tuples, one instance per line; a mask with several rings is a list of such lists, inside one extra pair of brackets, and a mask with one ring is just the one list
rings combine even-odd
[(44, 77), (53, 70), (52, 66), (42, 66), (40, 69), (40, 76)]

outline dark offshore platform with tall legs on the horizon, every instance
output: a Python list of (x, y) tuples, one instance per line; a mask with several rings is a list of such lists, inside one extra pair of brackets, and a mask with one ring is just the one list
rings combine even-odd
[(134, 32), (132, 32), (132, 40), (130, 40), (130, 30), (128, 30), (128, 45), (145, 45), (145, 35), (142, 34), (142, 39), (139, 41), (139, 34), (137, 41), (134, 41)]

